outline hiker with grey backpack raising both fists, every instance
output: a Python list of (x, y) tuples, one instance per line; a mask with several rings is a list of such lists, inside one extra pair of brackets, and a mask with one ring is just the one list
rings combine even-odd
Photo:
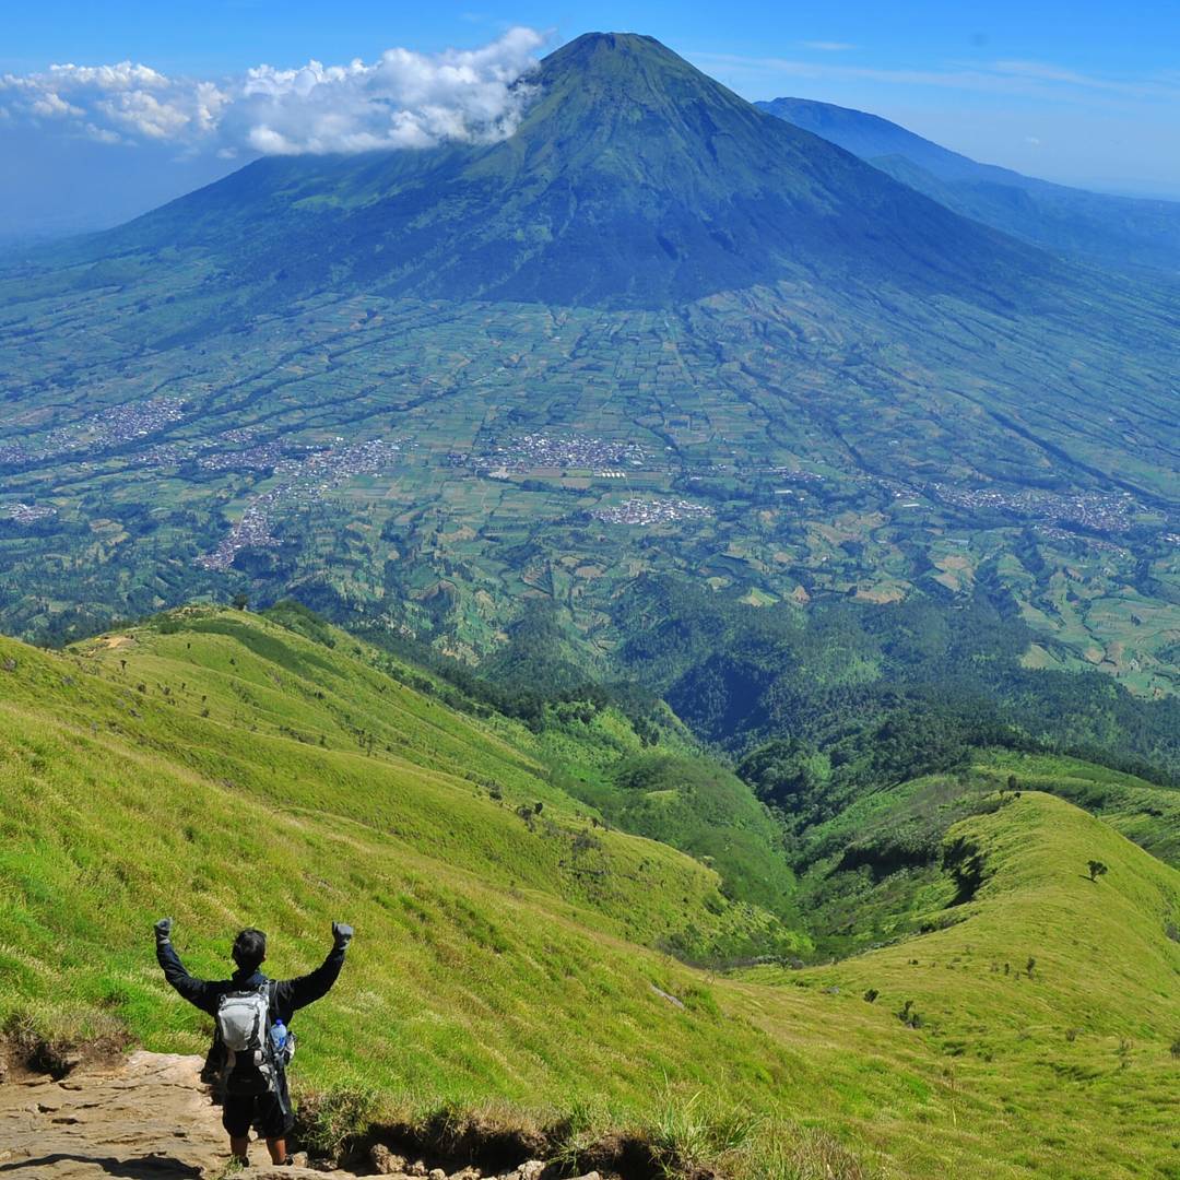
[(232, 978), (195, 979), (172, 946), (172, 919), (156, 923), (156, 958), (164, 978), (190, 1004), (217, 1022), (202, 1081), (218, 1075), (222, 1126), (229, 1133), (235, 1160), (247, 1162), (250, 1127), (267, 1140), (274, 1163), (289, 1165), (287, 1135), (295, 1122), (287, 1090), (287, 1064), (295, 1051), (295, 1034), (287, 1025), (301, 1008), (326, 996), (340, 975), (353, 927), (332, 924), (332, 950), (310, 975), (297, 979), (268, 979), (260, 968), (267, 958), (267, 936), (249, 927), (234, 939)]

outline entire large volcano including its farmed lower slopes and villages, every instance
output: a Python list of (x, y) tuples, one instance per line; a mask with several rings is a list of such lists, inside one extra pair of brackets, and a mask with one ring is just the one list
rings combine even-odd
[[(1163, 278), (956, 218), (650, 39), (538, 86), (503, 144), (261, 160), (9, 262), (7, 631), (294, 592), (481, 658), (538, 597), (612, 648), (641, 572), (802, 604), (985, 577), (1030, 662), (1173, 691)], [(631, 244), (568, 290), (586, 234)]]

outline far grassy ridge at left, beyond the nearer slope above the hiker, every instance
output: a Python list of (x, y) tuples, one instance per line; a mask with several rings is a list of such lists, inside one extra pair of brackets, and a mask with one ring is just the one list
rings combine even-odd
[[(524, 727), (457, 713), (404, 683), (432, 689), (412, 667), (307, 618), (300, 611), (291, 622), (314, 627), (312, 637), (241, 611), (191, 608), (87, 642), (58, 663), (66, 671), (61, 716), (76, 725), (105, 716), (109, 740), (151, 752), (137, 763), (150, 765), (153, 753), (165, 766), (256, 796), (256, 806), (312, 812), (327, 792), (348, 828), (395, 828), (413, 848), (460, 858), (484, 876), (557, 887), (566, 902), (589, 902), (641, 940), (667, 938), (689, 920), (700, 926), (695, 903), (715, 897), (720, 881), (713, 873), (663, 846), (649, 853), (642, 841), (595, 835), (586, 808), (550, 781), (562, 763), (543, 759)], [(35, 701), (53, 680), (54, 662), (8, 662), (11, 708)], [(568, 746), (576, 766), (577, 741)], [(542, 821), (536, 817), (543, 812)], [(572, 843), (578, 847), (571, 852)], [(625, 867), (609, 864), (620, 850), (629, 850)], [(620, 893), (604, 885), (616, 871), (620, 881), (630, 880), (637, 860), (657, 872), (664, 861), (674, 873), (664, 883), (670, 889), (649, 894), (653, 910), (635, 904), (625, 887)], [(690, 919), (656, 900), (677, 894)], [(748, 917), (766, 925), (765, 914), (743, 914), (741, 907), (722, 905), (717, 914), (715, 932), (739, 930)]]

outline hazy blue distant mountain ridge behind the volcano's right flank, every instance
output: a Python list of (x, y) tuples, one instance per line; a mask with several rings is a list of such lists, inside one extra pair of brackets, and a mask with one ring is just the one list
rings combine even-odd
[(1180, 270), (1180, 203), (1088, 192), (979, 164), (876, 114), (804, 98), (755, 103), (948, 209), (1051, 250)]

